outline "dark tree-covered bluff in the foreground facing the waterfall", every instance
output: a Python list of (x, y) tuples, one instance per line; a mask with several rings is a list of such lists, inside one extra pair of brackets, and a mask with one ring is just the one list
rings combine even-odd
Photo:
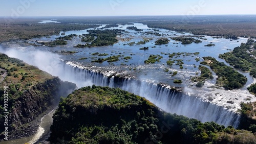
[(61, 98), (53, 118), (52, 143), (256, 143), (252, 132), (166, 113), (138, 95), (95, 85)]

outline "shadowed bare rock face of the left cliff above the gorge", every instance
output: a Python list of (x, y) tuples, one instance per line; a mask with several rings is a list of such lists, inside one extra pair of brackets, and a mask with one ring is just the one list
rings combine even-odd
[(56, 107), (60, 97), (66, 97), (75, 88), (76, 85), (73, 83), (53, 78), (25, 90), (24, 94), (14, 102), (10, 113), (10, 138), (20, 138), (35, 133), (38, 126), (34, 124), (37, 122), (34, 120), (42, 113)]

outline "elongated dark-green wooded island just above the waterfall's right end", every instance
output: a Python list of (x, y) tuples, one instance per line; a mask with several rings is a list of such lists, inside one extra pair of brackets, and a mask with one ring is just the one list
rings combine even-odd
[(210, 66), (218, 76), (216, 84), (225, 89), (239, 89), (247, 82), (245, 76), (238, 73), (232, 67), (225, 65), (223, 62), (219, 62), (212, 57), (203, 57), (203, 59), (204, 61), (200, 63)]

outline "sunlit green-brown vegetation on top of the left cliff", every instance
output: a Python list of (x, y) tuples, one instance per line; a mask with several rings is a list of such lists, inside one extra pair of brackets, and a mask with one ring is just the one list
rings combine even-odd
[[(10, 113), (14, 101), (20, 97), (20, 95), (24, 94), (24, 90), (28, 90), (38, 83), (54, 78), (35, 66), (28, 65), (19, 59), (10, 58), (5, 54), (0, 54), (0, 68), (7, 70), (7, 75), (5, 76), (4, 81), (0, 83), (2, 86), (8, 86), (8, 107), (10, 108), (8, 110)], [(2, 77), (3, 76), (0, 76), (0, 78)], [(0, 91), (4, 91), (4, 87), (1, 87)], [(2, 107), (4, 104), (3, 99), (4, 97), (1, 97), (0, 118), (4, 110)]]

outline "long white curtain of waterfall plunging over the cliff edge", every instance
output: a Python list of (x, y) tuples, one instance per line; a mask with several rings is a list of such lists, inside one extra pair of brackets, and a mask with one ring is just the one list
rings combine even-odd
[(238, 127), (240, 115), (222, 106), (202, 101), (200, 98), (174, 90), (167, 85), (140, 81), (132, 78), (119, 78), (104, 75), (99, 71), (86, 69), (68, 62), (65, 64), (65, 77), (78, 87), (95, 84), (97, 86), (118, 87), (140, 95), (157, 107), (170, 113), (198, 119), (201, 122), (216, 122), (220, 125)]

